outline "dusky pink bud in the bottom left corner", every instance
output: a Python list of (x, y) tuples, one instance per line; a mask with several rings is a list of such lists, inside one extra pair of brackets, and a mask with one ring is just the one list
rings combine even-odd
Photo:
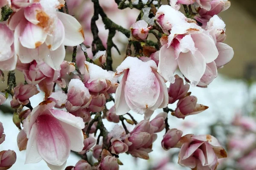
[(0, 170), (8, 170), (16, 161), (16, 153), (13, 150), (3, 150), (0, 152)]

